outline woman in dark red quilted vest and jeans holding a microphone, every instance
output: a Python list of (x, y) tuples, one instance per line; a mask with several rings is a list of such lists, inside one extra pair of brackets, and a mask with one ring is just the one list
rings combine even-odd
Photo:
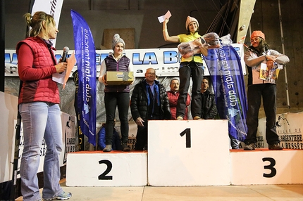
[(37, 171), (43, 139), (47, 144), (44, 158), (43, 200), (68, 200), (72, 194), (61, 188), (59, 155), (62, 151), (60, 96), (54, 73), (64, 72), (67, 62), (56, 63), (56, 50), (49, 39), (56, 39), (54, 18), (42, 11), (25, 14), (30, 30), (27, 39), (18, 42), (18, 73), (22, 83), (18, 106), (23, 120), (24, 148), (20, 164), (23, 200), (41, 200)]

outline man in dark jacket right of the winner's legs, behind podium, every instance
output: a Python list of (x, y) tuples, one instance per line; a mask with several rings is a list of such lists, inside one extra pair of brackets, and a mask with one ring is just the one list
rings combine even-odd
[(218, 113), (214, 93), (209, 91), (209, 79), (204, 77), (201, 82), (202, 119), (214, 119)]

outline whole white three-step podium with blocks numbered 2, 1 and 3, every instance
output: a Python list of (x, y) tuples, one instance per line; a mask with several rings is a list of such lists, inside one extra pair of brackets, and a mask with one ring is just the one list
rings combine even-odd
[(303, 150), (230, 150), (227, 120), (154, 120), (148, 132), (148, 151), (68, 153), (66, 186), (303, 183)]

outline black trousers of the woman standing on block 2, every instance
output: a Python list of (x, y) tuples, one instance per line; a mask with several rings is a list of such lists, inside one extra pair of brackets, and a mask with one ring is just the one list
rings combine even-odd
[(121, 143), (128, 143), (128, 108), (130, 105), (130, 93), (128, 92), (106, 92), (104, 95), (106, 124), (105, 139), (106, 145), (113, 143), (114, 120), (116, 108), (120, 119)]

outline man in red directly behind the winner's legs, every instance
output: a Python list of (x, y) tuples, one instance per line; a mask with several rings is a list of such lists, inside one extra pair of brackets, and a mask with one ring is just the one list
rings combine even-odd
[[(179, 98), (179, 79), (172, 79), (171, 80), (171, 91), (167, 91), (167, 96), (169, 100), (169, 107), (171, 108), (171, 119), (176, 119), (175, 112), (177, 112), (177, 103)], [(187, 100), (186, 100), (186, 108), (185, 108), (185, 115), (183, 117), (184, 120), (187, 119), (187, 106), (190, 105), (190, 94), (187, 93)]]

